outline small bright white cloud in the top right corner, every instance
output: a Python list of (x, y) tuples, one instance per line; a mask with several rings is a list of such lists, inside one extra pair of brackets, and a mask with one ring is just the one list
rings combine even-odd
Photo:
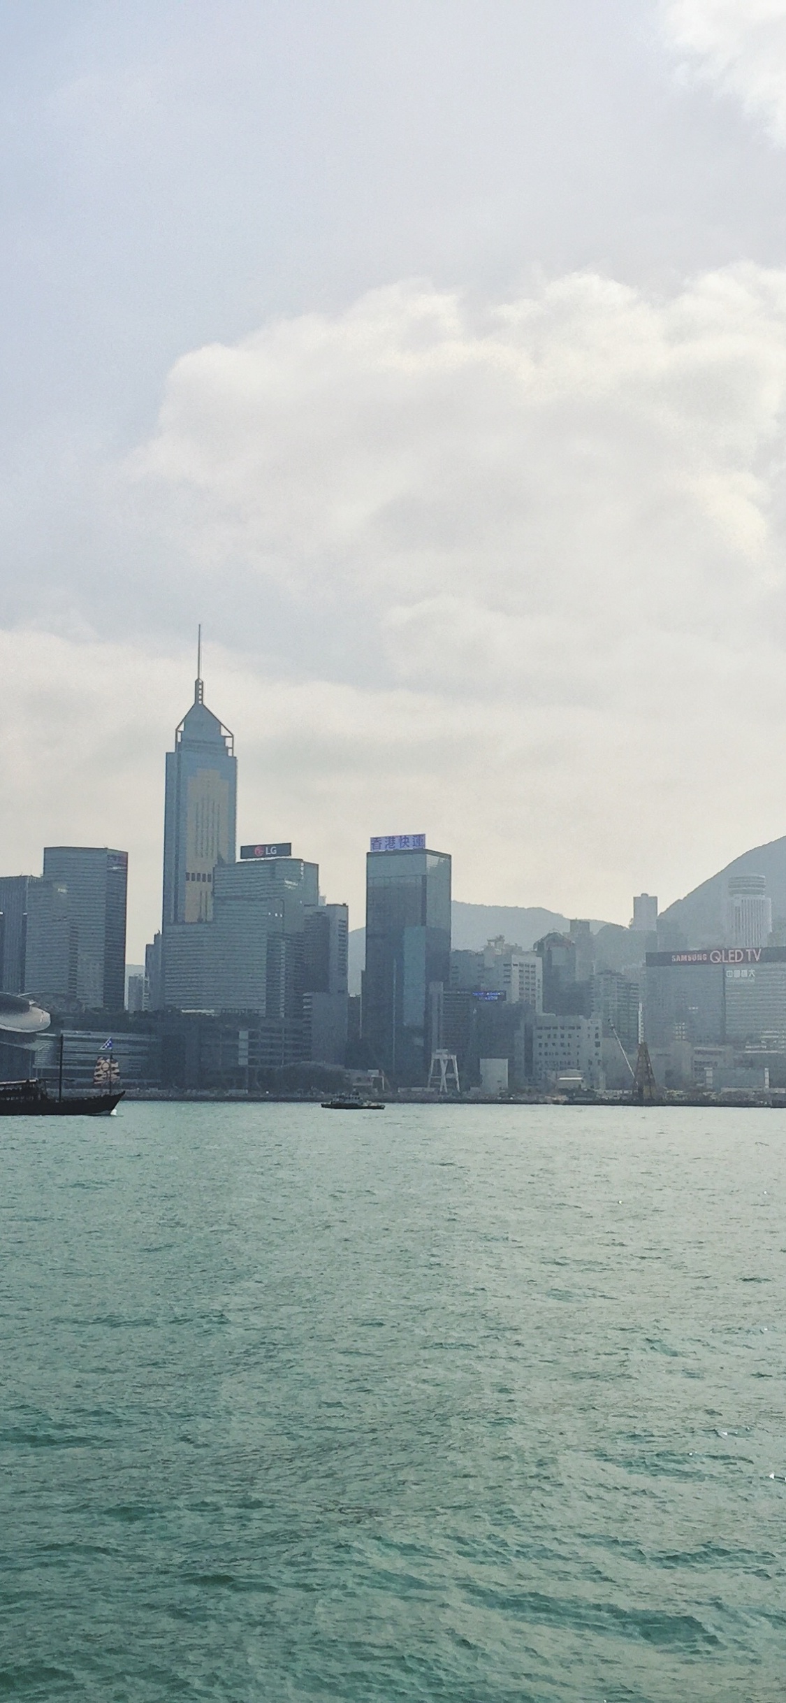
[(662, 12), (677, 51), (786, 143), (784, 0), (669, 0)]

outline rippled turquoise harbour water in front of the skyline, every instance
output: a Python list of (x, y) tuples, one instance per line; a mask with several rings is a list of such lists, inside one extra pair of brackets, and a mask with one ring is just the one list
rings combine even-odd
[(0, 1698), (781, 1703), (786, 1114), (2, 1143)]

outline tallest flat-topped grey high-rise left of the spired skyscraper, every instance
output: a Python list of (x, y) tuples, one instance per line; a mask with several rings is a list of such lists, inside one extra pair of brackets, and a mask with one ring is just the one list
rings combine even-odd
[(26, 983), (60, 1010), (122, 1012), (128, 852), (46, 846), (27, 884)]

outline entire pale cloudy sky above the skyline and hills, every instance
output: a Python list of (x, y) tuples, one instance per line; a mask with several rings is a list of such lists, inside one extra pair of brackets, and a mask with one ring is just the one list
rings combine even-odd
[(0, 872), (626, 923), (786, 831), (786, 0), (0, 0)]

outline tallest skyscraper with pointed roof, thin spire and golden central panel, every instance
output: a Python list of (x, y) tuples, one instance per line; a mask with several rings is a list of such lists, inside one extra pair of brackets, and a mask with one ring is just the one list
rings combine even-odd
[(167, 751), (163, 809), (163, 930), (213, 918), (213, 875), (235, 862), (235, 739), (204, 702), (202, 628), (194, 703)]

